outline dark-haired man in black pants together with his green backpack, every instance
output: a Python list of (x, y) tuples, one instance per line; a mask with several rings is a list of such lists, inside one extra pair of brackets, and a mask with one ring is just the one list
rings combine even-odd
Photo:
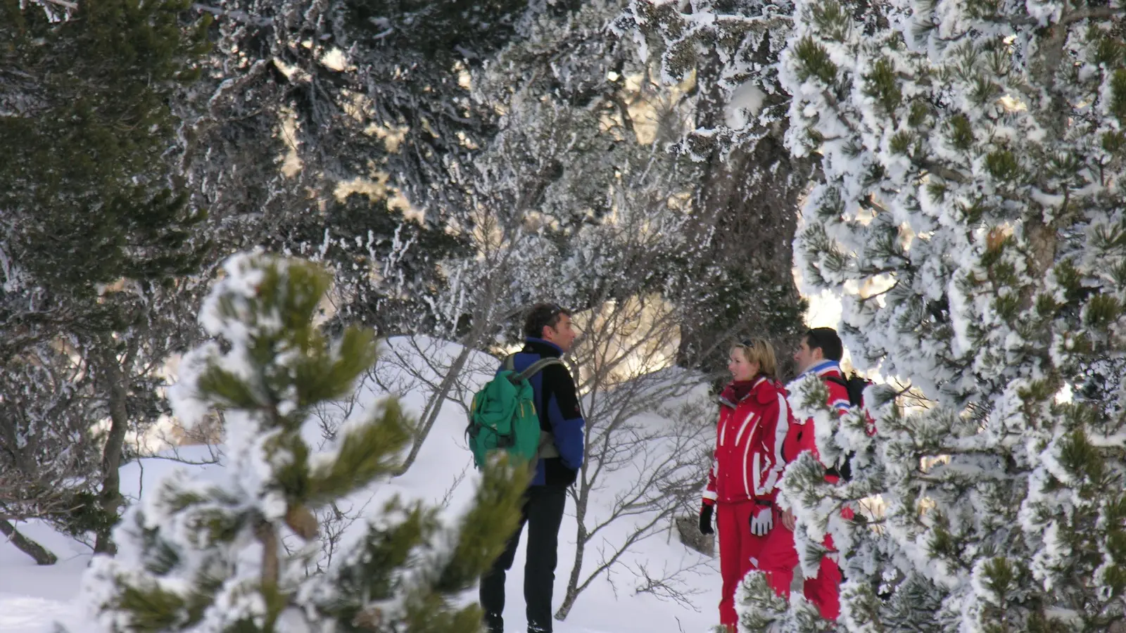
[(534, 305), (524, 323), (524, 349), (509, 356), (497, 377), (473, 399), (468, 437), (480, 465), (494, 451), (535, 464), (525, 493), (520, 526), (504, 553), (481, 579), (481, 608), (490, 633), (504, 631), (504, 578), (528, 525), (524, 599), (529, 633), (551, 633), (560, 525), (566, 489), (574, 483), (584, 453), (586, 422), (579, 394), (560, 359), (575, 332), (571, 313), (558, 305)]

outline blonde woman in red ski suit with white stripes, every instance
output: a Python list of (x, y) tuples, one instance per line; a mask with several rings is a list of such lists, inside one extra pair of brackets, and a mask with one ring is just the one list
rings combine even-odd
[(781, 446), (792, 413), (776, 367), (767, 341), (747, 340), (732, 348), (727, 369), (734, 380), (720, 394), (715, 458), (700, 506), (700, 532), (713, 533), (716, 514), (723, 576), (720, 623), (731, 632), (739, 623), (735, 590), (757, 568), (766, 536), (779, 520), (775, 485), (786, 465)]

